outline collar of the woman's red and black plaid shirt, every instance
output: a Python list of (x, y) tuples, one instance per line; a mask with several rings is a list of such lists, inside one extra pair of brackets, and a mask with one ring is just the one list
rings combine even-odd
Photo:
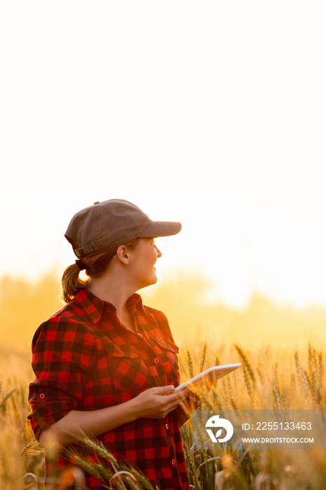
[[(92, 323), (98, 323), (101, 318), (104, 307), (106, 311), (115, 314), (116, 308), (112, 303), (108, 301), (101, 300), (99, 297), (95, 296), (91, 293), (87, 288), (80, 290), (79, 293), (76, 294), (73, 302), (77, 307), (83, 310), (90, 318)], [(140, 313), (144, 313), (143, 310), (143, 302), (141, 300), (141, 296), (137, 293), (134, 293), (127, 300), (127, 308), (130, 313), (134, 314), (136, 310)]]

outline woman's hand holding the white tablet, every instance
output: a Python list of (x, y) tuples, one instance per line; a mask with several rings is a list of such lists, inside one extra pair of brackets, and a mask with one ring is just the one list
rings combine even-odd
[(174, 386), (157, 386), (148, 388), (136, 396), (134, 402), (134, 416), (136, 419), (163, 419), (164, 416), (176, 409), (187, 398), (190, 391), (185, 389), (173, 393)]

